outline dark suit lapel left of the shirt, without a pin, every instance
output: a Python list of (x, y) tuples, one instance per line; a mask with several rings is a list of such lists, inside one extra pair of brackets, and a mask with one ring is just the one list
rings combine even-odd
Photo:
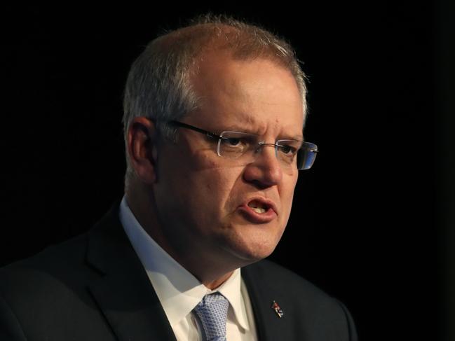
[(87, 261), (100, 273), (89, 291), (118, 340), (175, 340), (147, 273), (123, 231), (118, 205), (90, 231)]

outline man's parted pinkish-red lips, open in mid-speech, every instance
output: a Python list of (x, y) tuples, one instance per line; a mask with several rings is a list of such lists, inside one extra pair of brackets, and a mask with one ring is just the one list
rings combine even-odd
[(278, 216), (276, 204), (264, 197), (252, 197), (238, 207), (238, 210), (251, 223), (269, 223)]

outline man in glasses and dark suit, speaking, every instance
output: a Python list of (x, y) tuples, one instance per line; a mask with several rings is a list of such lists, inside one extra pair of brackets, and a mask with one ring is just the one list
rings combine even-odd
[(356, 340), (348, 311), (263, 260), (290, 216), (304, 74), (258, 27), (158, 37), (125, 88), (125, 196), (87, 235), (0, 272), (0, 340)]

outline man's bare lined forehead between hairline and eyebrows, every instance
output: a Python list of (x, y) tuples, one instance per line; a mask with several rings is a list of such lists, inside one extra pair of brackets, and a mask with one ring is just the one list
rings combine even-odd
[(301, 135), (304, 105), (297, 81), (271, 60), (234, 60), (229, 53), (207, 53), (191, 84), (198, 97), (193, 119), (212, 127)]

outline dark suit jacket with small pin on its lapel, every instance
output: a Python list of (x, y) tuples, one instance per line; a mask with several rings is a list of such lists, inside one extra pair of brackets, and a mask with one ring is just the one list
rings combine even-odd
[[(259, 340), (357, 340), (344, 305), (296, 274), (262, 260), (242, 277)], [(118, 207), (85, 235), (0, 270), (0, 340), (175, 340)]]

